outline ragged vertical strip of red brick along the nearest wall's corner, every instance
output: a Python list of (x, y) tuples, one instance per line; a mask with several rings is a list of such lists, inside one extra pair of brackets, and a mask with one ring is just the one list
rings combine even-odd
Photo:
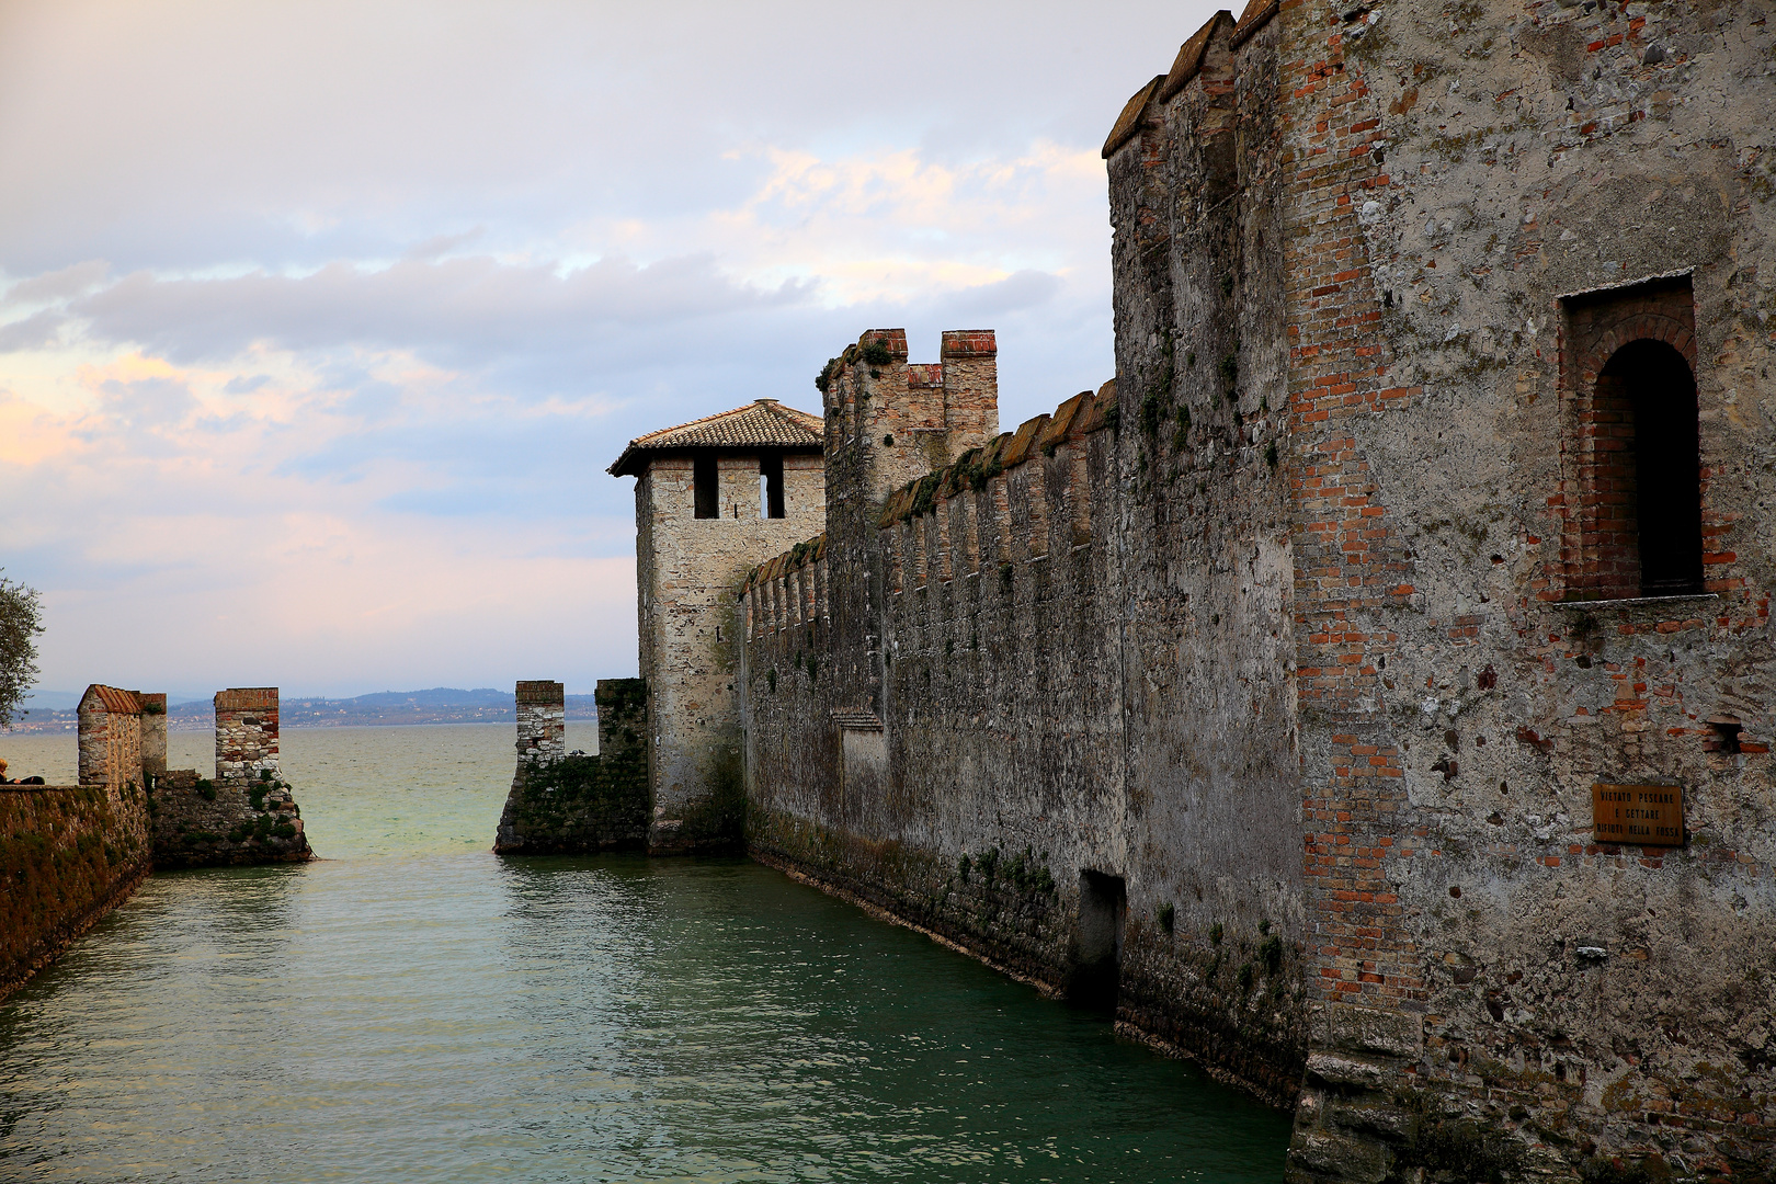
[(1304, 870), (1318, 955), (1311, 989), (1394, 1006), (1421, 998), (1423, 983), (1415, 944), (1394, 925), (1399, 900), (1385, 877), (1405, 797), (1375, 692), (1396, 641), (1389, 618), (1415, 588), (1352, 421), (1385, 415), (1421, 392), (1392, 380), (1359, 222), (1364, 204), (1385, 199), (1391, 185), (1378, 101), (1366, 71), (1343, 51), (1341, 25), (1316, 28), (1311, 5), (1284, 9), (1296, 694), (1304, 715), (1325, 730), (1304, 754)]

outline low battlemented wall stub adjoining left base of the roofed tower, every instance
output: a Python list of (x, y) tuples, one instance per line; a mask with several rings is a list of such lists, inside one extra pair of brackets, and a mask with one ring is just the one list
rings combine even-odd
[(645, 850), (654, 813), (646, 682), (599, 682), (599, 751), (590, 756), (565, 751), (561, 683), (520, 682), (517, 699), (519, 767), (494, 850), (503, 856)]

